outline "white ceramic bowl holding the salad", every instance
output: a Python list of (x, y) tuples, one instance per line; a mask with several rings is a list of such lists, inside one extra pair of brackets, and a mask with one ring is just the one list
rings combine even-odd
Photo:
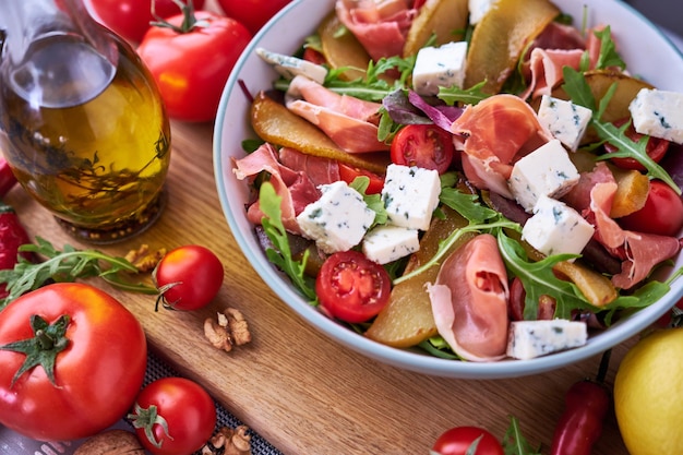
[[(562, 11), (579, 21), (584, 14), (583, 5), (586, 4), (589, 24), (603, 23), (611, 26), (615, 40), (620, 44), (622, 57), (632, 73), (642, 75), (659, 88), (683, 92), (681, 77), (683, 57), (666, 36), (635, 10), (615, 0), (554, 2)], [(263, 47), (279, 53), (293, 53), (321, 20), (332, 11), (333, 5), (334, 0), (297, 0), (263, 27), (244, 50), (227, 82), (214, 133), (214, 166), (218, 195), (232, 235), (263, 280), (308, 323), (350, 349), (399, 368), (463, 379), (512, 378), (556, 369), (599, 355), (646, 328), (683, 296), (683, 279), (679, 279), (663, 299), (592, 336), (588, 344), (580, 348), (531, 360), (490, 363), (444, 360), (384, 346), (349, 331), (309, 306), (290, 286), (288, 278), (273, 267), (261, 250), (253, 226), (245, 217), (248, 188), (243, 181), (235, 178), (231, 158), (244, 155), (242, 140), (256, 137), (249, 122), (250, 105), (238, 80), (242, 80), (247, 88), (255, 94), (260, 89), (269, 88), (276, 79), (276, 73), (256, 56), (254, 50)], [(681, 266), (682, 262), (683, 259), (680, 258), (676, 265)]]

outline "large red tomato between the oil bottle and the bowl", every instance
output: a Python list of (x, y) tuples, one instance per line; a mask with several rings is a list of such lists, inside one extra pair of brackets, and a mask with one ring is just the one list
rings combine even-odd
[[(216, 118), (225, 83), (251, 40), (251, 34), (233, 19), (207, 11), (194, 13), (187, 32), (152, 27), (137, 53), (156, 81), (170, 118), (211, 121)], [(183, 14), (168, 19), (180, 27)]]

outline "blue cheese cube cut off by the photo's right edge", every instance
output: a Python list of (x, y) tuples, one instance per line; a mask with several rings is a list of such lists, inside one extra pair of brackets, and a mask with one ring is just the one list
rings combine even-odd
[(643, 88), (628, 110), (638, 133), (683, 144), (683, 93)]

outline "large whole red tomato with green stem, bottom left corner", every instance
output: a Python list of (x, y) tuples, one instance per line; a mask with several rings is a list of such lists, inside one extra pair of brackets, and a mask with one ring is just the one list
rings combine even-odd
[[(53, 383), (47, 359), (31, 366), (17, 345), (8, 347), (21, 340), (51, 357)], [(91, 436), (125, 416), (146, 367), (142, 326), (113, 297), (85, 284), (45, 286), (0, 312), (0, 423), (40, 441)]]

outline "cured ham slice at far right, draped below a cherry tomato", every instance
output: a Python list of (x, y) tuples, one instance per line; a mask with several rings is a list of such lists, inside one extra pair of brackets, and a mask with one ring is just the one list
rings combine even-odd
[(622, 229), (609, 213), (616, 183), (597, 183), (590, 192), (590, 212), (595, 217), (596, 238), (608, 249), (624, 258), (621, 273), (612, 277), (612, 284), (631, 289), (645, 279), (652, 267), (673, 258), (681, 249), (678, 238)]

